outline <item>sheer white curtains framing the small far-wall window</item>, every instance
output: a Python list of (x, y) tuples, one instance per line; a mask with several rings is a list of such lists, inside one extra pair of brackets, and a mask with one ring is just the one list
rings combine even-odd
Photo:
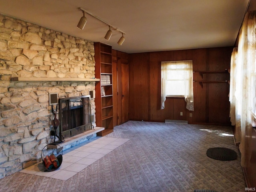
[(161, 62), (161, 109), (164, 109), (164, 102), (166, 100), (166, 80), (168, 77), (168, 66), (170, 66), (170, 64), (179, 65), (181, 63), (185, 66), (185, 68), (184, 68), (184, 70), (185, 70), (184, 97), (185, 97), (185, 101), (186, 101), (186, 108), (190, 111), (194, 111), (193, 62), (192, 62), (192, 60)]

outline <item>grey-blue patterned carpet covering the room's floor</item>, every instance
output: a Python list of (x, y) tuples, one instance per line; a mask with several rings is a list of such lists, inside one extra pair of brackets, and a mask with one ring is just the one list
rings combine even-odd
[(4, 192), (244, 192), (240, 159), (219, 161), (208, 148), (235, 150), (228, 126), (129, 121), (107, 137), (130, 140), (62, 181), (17, 172), (0, 180)]

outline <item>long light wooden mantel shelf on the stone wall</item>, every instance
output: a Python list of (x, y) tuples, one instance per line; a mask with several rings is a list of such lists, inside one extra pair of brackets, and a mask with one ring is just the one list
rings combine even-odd
[(97, 78), (12, 77), (11, 81), (100, 81)]

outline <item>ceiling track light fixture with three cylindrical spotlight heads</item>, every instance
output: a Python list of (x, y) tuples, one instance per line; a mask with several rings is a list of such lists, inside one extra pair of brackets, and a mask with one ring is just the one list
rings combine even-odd
[[(118, 29), (118, 28), (116, 28), (116, 27), (114, 27), (114, 26), (108, 24), (106, 21), (102, 20), (101, 18), (98, 18), (97, 16), (91, 14), (90, 12), (84, 10), (83, 8), (80, 7), (79, 9), (83, 12), (83, 14), (86, 13), (86, 14), (92, 16), (93, 18), (99, 20), (100, 22), (102, 22), (102, 23), (104, 23), (104, 24), (106, 24), (106, 25), (109, 26), (109, 30), (108, 30), (108, 32), (106, 33), (105, 37), (104, 37), (106, 40), (110, 40), (110, 37), (112, 36), (112, 31), (111, 31), (110, 28), (112, 28), (113, 30), (116, 30), (116, 31), (122, 33), (122, 37), (119, 39), (119, 41), (118, 41), (117, 43), (118, 43), (119, 45), (122, 45), (122, 44), (123, 44), (123, 42), (124, 42), (124, 40), (125, 40), (125, 39), (124, 39), (124, 34), (125, 34), (125, 32), (123, 32), (123, 31), (121, 31), (120, 29)], [(79, 21), (79, 23), (78, 23), (78, 25), (77, 25), (77, 27), (80, 28), (80, 29), (83, 29), (84, 26), (85, 26), (85, 24), (86, 24), (86, 21), (87, 21), (86, 17), (85, 17), (85, 16), (82, 16), (81, 19), (80, 19), (80, 21)]]

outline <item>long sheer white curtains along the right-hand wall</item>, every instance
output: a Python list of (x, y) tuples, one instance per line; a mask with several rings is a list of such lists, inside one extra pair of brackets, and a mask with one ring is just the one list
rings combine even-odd
[[(252, 122), (256, 100), (256, 12), (249, 12), (240, 30), (238, 50), (232, 53), (230, 69), (230, 120), (236, 124), (241, 165), (250, 161)], [(235, 113), (235, 114), (234, 114)]]

